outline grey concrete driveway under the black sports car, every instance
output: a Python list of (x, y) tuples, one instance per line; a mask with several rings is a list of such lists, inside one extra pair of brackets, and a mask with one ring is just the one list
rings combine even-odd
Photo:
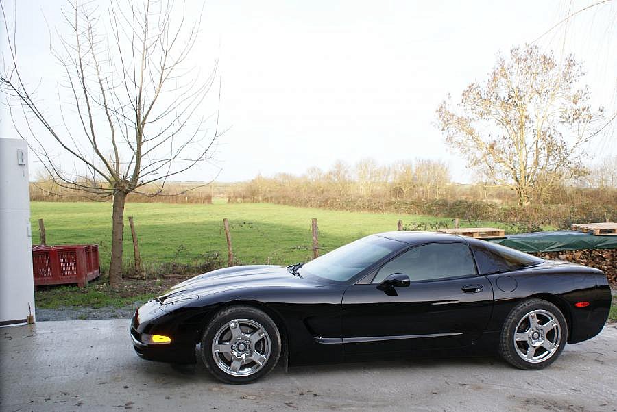
[(494, 358), (276, 369), (224, 385), (201, 364), (139, 359), (129, 320), (38, 322), (0, 329), (2, 411), (616, 411), (617, 324), (566, 346), (538, 372)]

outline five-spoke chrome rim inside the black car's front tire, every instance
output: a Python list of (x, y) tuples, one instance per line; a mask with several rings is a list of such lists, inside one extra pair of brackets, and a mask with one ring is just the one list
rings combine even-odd
[(217, 366), (232, 376), (250, 376), (263, 368), (271, 350), (265, 328), (254, 320), (234, 319), (223, 324), (212, 341)]

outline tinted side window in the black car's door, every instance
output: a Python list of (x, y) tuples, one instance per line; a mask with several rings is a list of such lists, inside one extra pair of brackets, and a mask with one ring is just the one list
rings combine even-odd
[(411, 281), (428, 281), (475, 275), (476, 266), (467, 244), (433, 243), (398, 255), (380, 268), (373, 283), (393, 273), (407, 274)]

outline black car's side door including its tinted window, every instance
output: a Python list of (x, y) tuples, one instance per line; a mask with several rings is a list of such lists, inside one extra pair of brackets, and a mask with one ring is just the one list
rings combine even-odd
[[(377, 288), (394, 273), (407, 274), (410, 285)], [(345, 353), (470, 345), (482, 335), (492, 301), (491, 283), (477, 274), (466, 242), (414, 246), (385, 263), (371, 283), (346, 289)]]

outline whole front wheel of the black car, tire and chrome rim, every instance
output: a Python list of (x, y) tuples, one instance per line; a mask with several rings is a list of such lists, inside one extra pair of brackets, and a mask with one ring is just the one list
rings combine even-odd
[(267, 313), (250, 306), (217, 312), (202, 336), (204, 365), (225, 383), (256, 381), (274, 369), (281, 353), (281, 337)]

